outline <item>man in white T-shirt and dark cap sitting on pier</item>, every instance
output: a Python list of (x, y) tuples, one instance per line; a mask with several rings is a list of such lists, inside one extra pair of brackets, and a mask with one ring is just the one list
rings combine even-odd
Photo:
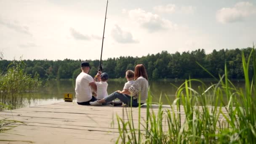
[(96, 101), (97, 99), (92, 96), (91, 88), (97, 91), (97, 86), (90, 72), (90, 64), (86, 61), (81, 63), (82, 72), (77, 76), (75, 80), (75, 97), (77, 98), (77, 104), (90, 105), (90, 101)]

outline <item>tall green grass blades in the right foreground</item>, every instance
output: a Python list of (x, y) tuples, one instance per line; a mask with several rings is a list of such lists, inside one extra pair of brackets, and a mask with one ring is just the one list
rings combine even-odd
[[(248, 60), (245, 59), (244, 53), (242, 54), (245, 92), (241, 88), (236, 88), (228, 79), (226, 65), (225, 74), (219, 76), (218, 82), (209, 87), (200, 80), (185, 80), (177, 88), (176, 99), (172, 103), (169, 101), (168, 108), (164, 108), (160, 101), (158, 108), (154, 108), (149, 92), (145, 108), (146, 118), (141, 120), (141, 110), (144, 108), (139, 107), (138, 126), (134, 126), (137, 121), (134, 119), (137, 117), (133, 116), (134, 109), (124, 108), (123, 118), (117, 115), (120, 136), (116, 143), (254, 143), (256, 141), (255, 56), (254, 46)], [(248, 74), (249, 64), (253, 65), (251, 81)], [(192, 89), (193, 81), (200, 82), (202, 86)], [(227, 103), (224, 102), (224, 97), (227, 97)], [(124, 119), (125, 115), (128, 117), (127, 121)]]

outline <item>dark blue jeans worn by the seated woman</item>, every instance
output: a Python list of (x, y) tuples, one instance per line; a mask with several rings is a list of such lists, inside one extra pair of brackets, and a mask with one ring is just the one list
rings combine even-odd
[(128, 96), (128, 95), (123, 94), (123, 93), (114, 92), (114, 93), (111, 93), (109, 96), (105, 97), (104, 99), (105, 99), (106, 103), (108, 103), (110, 101), (113, 101), (115, 99), (120, 99), (120, 101), (122, 101), (123, 103), (125, 103), (129, 106), (132, 106), (132, 107), (138, 107), (139, 106), (139, 104), (137, 102), (137, 99), (133, 99), (133, 97)]

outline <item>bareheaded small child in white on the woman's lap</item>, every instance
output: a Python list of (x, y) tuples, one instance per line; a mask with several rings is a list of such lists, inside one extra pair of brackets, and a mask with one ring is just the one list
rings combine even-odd
[[(125, 83), (125, 86), (123, 87), (123, 91), (121, 91), (120, 93), (128, 91), (128, 88), (133, 84), (134, 72), (132, 70), (127, 70), (125, 72), (125, 78), (126, 78), (127, 82)], [(123, 102), (122, 101), (113, 101), (113, 102), (110, 102), (110, 104), (112, 104), (113, 106), (120, 106), (123, 104)]]

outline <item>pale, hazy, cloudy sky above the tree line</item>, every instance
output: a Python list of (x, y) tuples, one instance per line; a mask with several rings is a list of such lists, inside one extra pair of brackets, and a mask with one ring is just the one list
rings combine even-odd
[[(0, 0), (4, 59), (100, 59), (107, 0)], [(102, 59), (252, 47), (256, 0), (109, 0)]]

